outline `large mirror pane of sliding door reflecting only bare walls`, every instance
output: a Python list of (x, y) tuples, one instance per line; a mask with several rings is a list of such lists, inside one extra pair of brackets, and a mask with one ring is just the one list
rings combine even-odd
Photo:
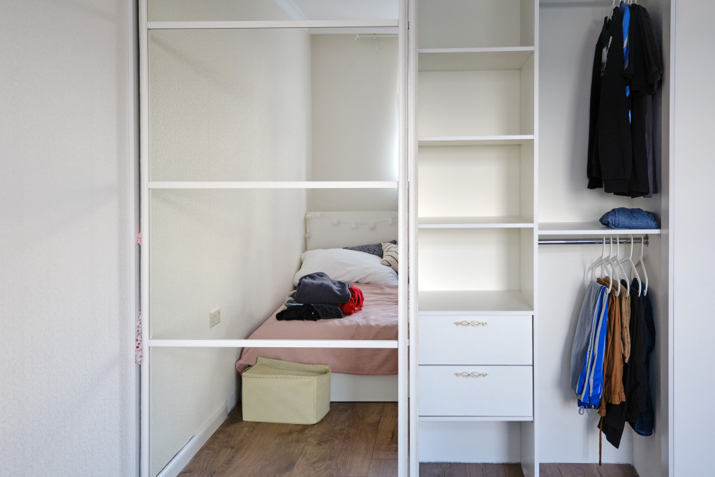
[(149, 56), (151, 180), (398, 178), (393, 34), (157, 30)]

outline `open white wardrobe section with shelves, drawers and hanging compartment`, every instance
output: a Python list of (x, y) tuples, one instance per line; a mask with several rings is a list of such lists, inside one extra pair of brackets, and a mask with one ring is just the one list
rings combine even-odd
[[(670, 2), (638, 3), (662, 39), (664, 80), (654, 101), (661, 193), (634, 200), (586, 188), (591, 67), (611, 2), (410, 5), (412, 466), (521, 462), (538, 475), (539, 463), (598, 462), (598, 416), (579, 415), (568, 357), (583, 272), (601, 246), (546, 242), (610, 232), (649, 239), (656, 428), (642, 437), (626, 426), (618, 449), (604, 439), (603, 461), (671, 471)], [(661, 229), (604, 232), (598, 218), (614, 207), (655, 212)]]

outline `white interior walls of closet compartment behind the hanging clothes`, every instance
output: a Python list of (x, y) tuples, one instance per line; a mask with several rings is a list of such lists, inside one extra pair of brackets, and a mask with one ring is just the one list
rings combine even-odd
[[(656, 165), (660, 193), (631, 200), (586, 188), (588, 110), (596, 39), (608, 1), (541, 1), (539, 78), (538, 215), (544, 222), (591, 222), (613, 207), (640, 207), (661, 218), (662, 235), (649, 235), (646, 268), (654, 304), (656, 348), (651, 391), (656, 405), (654, 436), (638, 436), (626, 425), (620, 448), (603, 441), (603, 462), (633, 463), (641, 476), (667, 475), (669, 441), (669, 24), (670, 1), (638, 1), (662, 38), (663, 84), (654, 100)], [(593, 228), (593, 227), (591, 227)], [(621, 245), (623, 247), (623, 245)], [(636, 245), (636, 252), (639, 246)], [(538, 254), (539, 460), (598, 462), (598, 416), (579, 415), (569, 389), (569, 357), (585, 281), (583, 272), (601, 245), (543, 245)], [(623, 250), (621, 250), (623, 257)]]

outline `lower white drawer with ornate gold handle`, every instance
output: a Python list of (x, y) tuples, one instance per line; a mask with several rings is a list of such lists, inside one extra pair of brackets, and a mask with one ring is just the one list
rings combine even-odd
[(420, 415), (533, 416), (531, 366), (420, 365), (418, 373)]

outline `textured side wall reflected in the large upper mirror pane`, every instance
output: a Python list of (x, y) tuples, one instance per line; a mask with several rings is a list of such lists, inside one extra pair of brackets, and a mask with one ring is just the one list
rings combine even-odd
[(305, 179), (305, 31), (152, 31), (149, 59), (152, 180)]

